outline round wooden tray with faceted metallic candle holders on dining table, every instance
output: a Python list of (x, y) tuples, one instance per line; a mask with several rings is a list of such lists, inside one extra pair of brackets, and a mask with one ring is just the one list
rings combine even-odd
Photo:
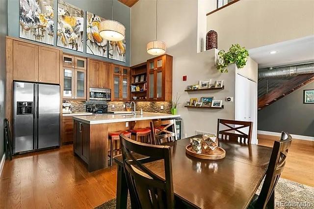
[(202, 138), (191, 138), (191, 144), (185, 147), (185, 153), (201, 159), (222, 159), (226, 151), (218, 147), (218, 138), (215, 135), (206, 134)]

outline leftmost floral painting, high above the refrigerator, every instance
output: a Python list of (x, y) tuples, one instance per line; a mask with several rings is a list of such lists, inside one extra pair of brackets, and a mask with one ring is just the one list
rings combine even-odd
[(20, 37), (53, 45), (53, 0), (20, 0)]

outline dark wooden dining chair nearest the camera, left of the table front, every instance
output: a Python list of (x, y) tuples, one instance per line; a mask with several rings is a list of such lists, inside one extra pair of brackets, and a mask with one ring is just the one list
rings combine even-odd
[[(170, 147), (137, 142), (122, 134), (120, 141), (132, 209), (174, 208)], [(165, 178), (144, 164), (157, 160), (163, 160)]]

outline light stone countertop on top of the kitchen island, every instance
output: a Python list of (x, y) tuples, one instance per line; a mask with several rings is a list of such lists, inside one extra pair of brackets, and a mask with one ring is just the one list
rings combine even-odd
[(154, 119), (177, 118), (177, 117), (180, 117), (180, 115), (143, 112), (143, 115), (139, 115), (137, 113), (135, 116), (134, 115), (99, 114), (99, 115), (75, 116), (73, 117), (73, 119), (78, 120), (83, 123), (87, 123), (87, 124), (104, 124), (104, 123), (118, 123), (118, 122), (154, 120)]

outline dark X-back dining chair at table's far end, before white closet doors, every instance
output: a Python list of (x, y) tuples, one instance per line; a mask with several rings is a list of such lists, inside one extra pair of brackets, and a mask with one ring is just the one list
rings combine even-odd
[[(229, 129), (220, 130), (220, 124)], [(248, 133), (244, 133), (240, 129), (248, 127)], [(230, 141), (239, 141), (241, 143), (251, 144), (253, 122), (250, 121), (234, 121), (226, 119), (218, 119), (217, 137), (221, 134), (221, 139)], [(233, 132), (230, 132), (233, 131)]]

